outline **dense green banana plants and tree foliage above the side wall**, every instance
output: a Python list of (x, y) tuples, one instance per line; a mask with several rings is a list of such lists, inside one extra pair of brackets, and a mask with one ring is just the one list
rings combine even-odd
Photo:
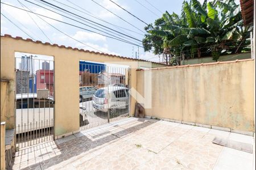
[[(181, 15), (167, 11), (154, 24), (148, 25), (143, 39), (145, 51), (163, 55), (167, 48), (170, 63), (179, 64), (185, 57), (204, 57), (212, 54), (217, 61), (221, 54), (250, 50), (252, 26), (243, 26), (241, 8), (234, 0), (215, 0), (201, 4), (184, 1)], [(183, 56), (183, 57), (181, 57)]]

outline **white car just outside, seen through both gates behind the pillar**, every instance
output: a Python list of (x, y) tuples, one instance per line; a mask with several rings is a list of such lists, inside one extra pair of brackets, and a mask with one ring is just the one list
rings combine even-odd
[[(16, 94), (16, 134), (53, 127), (53, 107), (53, 97), (37, 99), (37, 94)], [(80, 121), (85, 120), (85, 107), (80, 104)]]

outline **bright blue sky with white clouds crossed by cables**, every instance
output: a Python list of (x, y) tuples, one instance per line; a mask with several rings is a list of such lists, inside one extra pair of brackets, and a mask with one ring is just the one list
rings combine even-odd
[[(51, 18), (60, 20), (62, 22), (67, 22), (70, 24), (75, 24), (79, 27), (85, 28), (85, 29), (90, 29), (95, 32), (99, 32), (96, 29), (93, 28), (98, 28), (95, 27), (94, 25), (91, 25), (93, 28), (90, 28), (86, 25), (83, 25), (81, 23), (85, 23), (84, 21), (80, 21), (81, 23), (77, 23), (73, 20), (67, 19), (64, 16), (61, 16), (59, 14), (56, 14), (54, 12), (48, 11), (42, 7), (33, 5), (30, 2), (36, 3), (38, 5), (50, 8), (44, 3), (38, 1), (38, 0), (28, 0), (30, 2), (27, 2), (25, 0), (19, 0), (23, 5), (28, 7), (30, 10), (37, 12), (38, 14), (46, 15)], [(135, 39), (142, 40), (143, 39), (143, 31), (144, 27), (146, 26), (145, 23), (153, 23), (155, 19), (160, 18), (162, 16), (164, 11), (168, 11), (170, 13), (175, 12), (176, 14), (180, 14), (181, 11), (181, 5), (182, 2), (181, 0), (130, 0), (130, 1), (125, 1), (125, 0), (112, 0), (113, 2), (117, 3), (119, 6), (125, 8), (127, 11), (131, 12), (131, 14), (137, 16), (139, 19), (141, 19), (143, 22), (141, 22), (139, 19), (135, 18), (134, 16), (128, 14), (126, 11), (122, 10), (120, 7), (115, 5), (113, 2), (109, 0), (93, 0), (100, 5), (104, 6), (108, 10), (114, 12), (114, 14), (118, 15), (120, 18), (123, 20), (126, 20), (130, 24), (124, 22), (122, 19), (118, 18), (117, 16), (113, 15), (109, 11), (105, 10), (101, 6), (98, 6), (96, 3), (94, 3), (92, 0), (84, 0), (84, 1), (75, 1), (75, 0), (45, 0), (47, 2), (53, 3), (54, 5), (65, 8), (70, 12), (73, 12), (79, 16), (82, 16), (86, 19), (93, 20), (94, 22), (100, 23), (102, 25), (105, 25), (107, 27), (110, 27), (112, 29), (115, 29), (119, 32), (122, 32), (124, 35), (129, 35), (131, 37), (134, 37)], [(13, 5), (13, 6), (18, 6), (20, 8), (25, 8), (20, 5), (20, 3), (17, 0), (1, 0), (1, 2)], [(149, 3), (148, 3), (149, 2)], [(62, 4), (61, 4), (62, 3)], [(73, 4), (79, 6), (75, 6)], [(73, 8), (69, 8), (64, 5), (71, 6)], [(154, 7), (152, 7), (154, 6)], [(80, 11), (77, 11), (77, 10)], [(51, 10), (57, 11), (53, 8)], [(86, 10), (86, 11), (84, 11)], [(60, 11), (57, 11), (60, 12)], [(88, 13), (89, 12), (89, 13)], [(117, 54), (119, 56), (125, 56), (125, 57), (133, 57), (135, 58), (135, 52), (139, 53), (139, 58), (140, 59), (147, 59), (150, 61), (159, 61), (159, 57), (155, 56), (154, 54), (150, 52), (144, 52), (144, 49), (139, 47), (139, 52), (138, 52), (138, 46), (132, 45), (132, 44), (127, 44), (122, 41), (114, 40), (111, 39), (110, 37), (106, 37), (104, 35), (110, 36), (109, 32), (107, 33), (102, 33), (104, 35), (99, 35), (94, 32), (89, 32), (81, 28), (76, 28), (72, 27), (71, 25), (66, 25), (64, 23), (57, 22), (56, 20), (51, 20), (48, 18), (42, 18), (45, 19), (48, 23), (52, 24), (54, 27), (57, 29), (60, 29), (60, 31), (63, 31), (65, 34), (57, 31), (55, 28), (51, 27), (51, 25), (48, 25), (45, 23), (42, 19), (40, 19), (38, 16), (35, 14), (29, 14), (26, 11), (18, 10), (16, 8), (3, 5), (1, 4), (1, 13), (7, 18), (9, 18), (12, 22), (14, 22), (16, 25), (18, 25), (24, 32), (20, 31), (19, 28), (17, 28), (14, 24), (12, 24), (9, 20), (7, 20), (3, 15), (1, 15), (1, 35), (4, 34), (10, 34), (12, 36), (20, 36), (23, 37), (24, 39), (26, 38), (33, 38), (34, 40), (40, 40), (43, 42), (49, 42), (49, 40), (53, 44), (59, 44), (59, 45), (65, 45), (65, 46), (72, 46), (72, 47), (77, 47), (77, 48), (83, 48), (83, 49), (88, 49), (88, 50), (93, 50), (97, 51), (100, 50), (101, 52), (104, 53), (109, 53), (109, 54)], [(61, 14), (67, 15), (63, 12), (60, 12)], [(101, 20), (104, 20), (105, 22), (109, 22), (112, 24), (115, 24), (117, 26), (110, 25), (108, 23), (102, 22), (101, 20), (98, 20), (96, 18), (93, 18), (92, 16), (86, 15), (90, 14), (94, 17), (100, 18)], [(67, 15), (68, 16), (68, 15)], [(69, 16), (73, 19), (78, 20), (77, 16)], [(32, 19), (31, 19), (32, 18)], [(42, 31), (38, 28), (38, 26)], [(87, 23), (85, 23), (87, 24)], [(89, 24), (88, 24), (89, 25)], [(120, 28), (122, 27), (122, 28)], [(137, 28), (135, 28), (137, 27)], [(125, 28), (125, 29), (123, 29)], [(129, 30), (131, 31), (129, 31)], [(103, 29), (101, 29), (103, 30)], [(113, 35), (113, 33), (110, 33)], [(29, 37), (29, 36), (31, 37)], [(124, 36), (123, 35), (123, 36)], [(116, 36), (116, 35), (115, 35)], [(76, 39), (80, 42), (77, 42), (73, 39)], [(131, 42), (136, 42), (136, 44), (140, 44), (141, 42), (130, 39), (129, 41)], [(142, 45), (142, 44), (141, 44)], [(89, 47), (90, 46), (90, 47)], [(92, 47), (92, 48), (91, 48)], [(134, 49), (134, 50), (133, 50)]]

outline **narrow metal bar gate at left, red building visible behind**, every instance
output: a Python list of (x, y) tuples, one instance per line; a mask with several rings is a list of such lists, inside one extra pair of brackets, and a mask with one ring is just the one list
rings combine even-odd
[(53, 140), (54, 61), (46, 58), (15, 56), (18, 148)]

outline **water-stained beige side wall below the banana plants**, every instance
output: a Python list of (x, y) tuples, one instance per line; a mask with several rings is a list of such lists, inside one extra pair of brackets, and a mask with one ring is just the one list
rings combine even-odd
[[(152, 107), (146, 115), (254, 132), (254, 62), (244, 59), (144, 70), (151, 71), (152, 77)], [(137, 91), (142, 96), (144, 71), (137, 71)]]

